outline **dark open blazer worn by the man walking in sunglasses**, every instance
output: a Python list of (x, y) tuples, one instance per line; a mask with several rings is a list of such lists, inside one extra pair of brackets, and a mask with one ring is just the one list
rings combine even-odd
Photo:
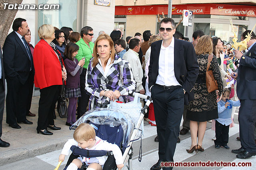
[[(148, 67), (148, 88), (156, 83), (162, 40), (151, 44), (150, 65)], [(174, 74), (176, 80), (186, 90), (184, 104), (194, 99), (193, 86), (198, 76), (199, 66), (192, 43), (174, 39)]]

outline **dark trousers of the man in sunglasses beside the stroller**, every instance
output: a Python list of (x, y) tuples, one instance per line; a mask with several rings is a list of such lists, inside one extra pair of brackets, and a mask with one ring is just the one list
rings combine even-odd
[[(159, 159), (174, 162), (173, 156), (176, 149), (180, 121), (184, 109), (184, 91), (182, 87), (164, 90), (157, 84), (151, 88), (154, 112), (159, 137)], [(163, 167), (172, 169), (172, 167)]]

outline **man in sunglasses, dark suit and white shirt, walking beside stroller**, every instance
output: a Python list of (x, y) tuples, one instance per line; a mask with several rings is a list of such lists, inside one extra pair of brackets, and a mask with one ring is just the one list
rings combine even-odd
[(161, 167), (162, 162), (174, 162), (180, 121), (184, 104), (194, 99), (193, 86), (199, 72), (192, 43), (174, 39), (175, 22), (164, 18), (159, 24), (163, 40), (151, 44), (148, 87), (154, 104), (159, 160), (150, 169)]

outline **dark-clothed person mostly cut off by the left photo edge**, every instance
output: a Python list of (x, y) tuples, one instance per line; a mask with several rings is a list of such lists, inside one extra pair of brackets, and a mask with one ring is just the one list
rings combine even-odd
[(4, 90), (5, 90), (5, 81), (4, 81), (4, 64), (2, 57), (2, 50), (0, 47), (0, 147), (9, 147), (10, 143), (2, 141), (2, 121), (4, 115)]

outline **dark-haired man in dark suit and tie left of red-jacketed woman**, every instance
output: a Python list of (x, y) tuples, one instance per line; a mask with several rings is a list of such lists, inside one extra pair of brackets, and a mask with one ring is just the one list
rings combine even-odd
[(4, 73), (7, 81), (6, 123), (20, 129), (18, 123), (32, 124), (26, 119), (29, 82), (34, 81), (33, 57), (23, 37), (29, 27), (25, 19), (16, 18), (13, 31), (7, 35), (3, 46)]

